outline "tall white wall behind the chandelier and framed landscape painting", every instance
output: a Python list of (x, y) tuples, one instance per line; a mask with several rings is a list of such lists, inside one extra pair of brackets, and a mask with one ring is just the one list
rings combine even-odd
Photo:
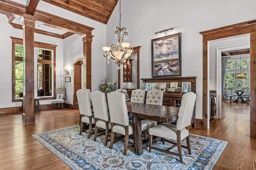
[[(168, 35), (181, 32), (182, 76), (197, 76), (196, 118), (202, 119), (202, 35), (201, 31), (255, 20), (255, 0), (123, 0), (121, 26), (129, 30), (128, 42), (140, 48), (140, 78), (151, 78), (151, 39), (156, 32), (174, 27)], [(117, 5), (107, 24), (107, 43), (116, 43), (114, 26), (119, 22)], [(117, 80), (116, 68), (107, 65), (107, 76)], [(142, 83), (141, 88), (142, 88)]]

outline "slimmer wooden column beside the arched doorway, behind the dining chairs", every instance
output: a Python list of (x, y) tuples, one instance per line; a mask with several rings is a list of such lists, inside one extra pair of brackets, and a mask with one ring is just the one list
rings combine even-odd
[[(93, 35), (83, 35), (84, 43), (84, 88), (92, 90), (92, 37)], [(86, 76), (86, 78), (85, 78)]]

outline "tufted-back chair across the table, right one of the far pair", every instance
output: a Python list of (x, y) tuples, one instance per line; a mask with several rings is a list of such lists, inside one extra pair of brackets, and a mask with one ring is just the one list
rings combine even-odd
[[(149, 90), (146, 96), (146, 104), (162, 105), (163, 96), (164, 96), (164, 93), (161, 90), (157, 90), (157, 89)], [(144, 119), (142, 120), (142, 122), (148, 124), (148, 129), (157, 125), (157, 121), (153, 121), (153, 120)]]

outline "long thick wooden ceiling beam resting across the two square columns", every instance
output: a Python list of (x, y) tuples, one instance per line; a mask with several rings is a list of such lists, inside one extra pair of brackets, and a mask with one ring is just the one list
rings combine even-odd
[(23, 16), (24, 18), (36, 20), (38, 23), (41, 23), (43, 25), (62, 29), (79, 35), (91, 35), (92, 30), (94, 29), (92, 27), (82, 25), (74, 21), (66, 20), (64, 18), (54, 16), (39, 10), (36, 10), (34, 16), (31, 16), (30, 14), (26, 14), (26, 6), (18, 4), (16, 2), (12, 2), (10, 0), (0, 1), (0, 13), (14, 17)]

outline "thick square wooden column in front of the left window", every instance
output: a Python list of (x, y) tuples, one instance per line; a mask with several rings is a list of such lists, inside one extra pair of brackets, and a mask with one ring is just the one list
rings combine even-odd
[(36, 123), (34, 113), (34, 27), (35, 21), (21, 17), (23, 28), (23, 114), (22, 123)]

